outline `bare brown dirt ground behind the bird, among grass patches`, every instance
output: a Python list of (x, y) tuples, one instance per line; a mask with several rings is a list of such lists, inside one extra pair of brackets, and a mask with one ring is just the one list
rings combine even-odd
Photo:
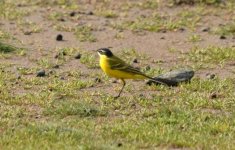
[[(158, 5), (152, 8), (151, 5), (151, 7), (145, 7), (145, 1), (141, 0), (77, 1), (73, 3), (78, 6), (77, 9), (69, 9), (66, 8), (66, 5), (56, 5), (56, 3), (40, 4), (38, 2), (37, 4), (37, 2), (18, 2), (17, 10), (30, 10), (30, 13), (18, 20), (1, 19), (0, 29), (18, 39), (20, 42), (17, 42), (15, 45), (26, 48), (27, 56), (12, 56), (9, 59), (1, 60), (1, 62), (11, 63), (17, 67), (35, 67), (37, 66), (37, 60), (44, 57), (55, 62), (56, 49), (65, 47), (75, 47), (86, 51), (101, 47), (113, 47), (112, 50), (114, 53), (124, 48), (133, 48), (139, 53), (145, 53), (150, 56), (149, 60), (161, 62), (156, 65), (150, 61), (149, 65), (154, 65), (154, 68), (158, 67), (168, 71), (174, 68), (192, 67), (192, 62), (182, 61), (181, 56), (182, 54), (187, 54), (195, 46), (200, 48), (208, 46), (235, 46), (235, 38), (233, 36), (227, 36), (224, 39), (220, 37), (221, 35), (210, 32), (231, 22), (234, 19), (234, 11), (211, 5), (170, 5), (168, 2), (156, 2)], [(106, 9), (113, 11), (117, 14), (117, 17), (102, 15), (102, 11)], [(164, 29), (151, 32), (146, 30), (132, 31), (129, 29), (116, 29), (112, 27), (112, 24), (133, 21), (139, 16), (145, 18), (152, 14), (162, 16), (163, 21), (166, 18), (165, 21), (172, 20), (174, 23), (174, 21), (177, 21), (178, 14), (182, 12), (198, 13), (197, 17), (200, 21), (195, 23), (193, 29), (186, 25), (171, 30)], [(60, 16), (48, 19), (53, 13), (60, 13)], [(195, 18), (192, 17), (189, 19), (194, 21)], [(33, 32), (30, 26), (28, 28), (27, 26), (19, 25), (21, 21), (33, 23), (36, 27), (40, 28), (40, 31)], [(74, 28), (81, 25), (92, 26), (93, 29), (91, 32), (95, 36), (96, 41), (81, 42), (76, 38), (74, 32), (56, 30), (55, 26), (57, 25), (66, 28)], [(63, 41), (56, 40), (58, 34), (63, 36)], [(120, 35), (120, 38), (116, 38), (118, 35)], [(196, 42), (190, 41), (189, 37), (193, 35), (199, 36), (200, 40)], [(171, 49), (175, 52), (172, 52)], [(98, 61), (98, 55), (96, 57)], [(58, 71), (76, 70), (81, 67), (83, 70), (86, 70), (86, 67), (79, 61), (71, 59), (71, 61), (60, 66)], [(202, 78), (208, 73), (224, 78), (233, 76), (233, 69), (233, 61), (229, 61), (223, 67), (215, 65), (210, 69), (195, 69), (195, 71), (196, 76)]]

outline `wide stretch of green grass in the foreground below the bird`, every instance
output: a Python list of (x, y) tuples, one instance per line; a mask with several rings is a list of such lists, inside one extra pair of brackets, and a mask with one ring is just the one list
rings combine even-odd
[[(77, 93), (82, 83), (77, 75), (66, 82), (37, 79), (37, 93), (12, 95), (8, 86), (15, 81), (8, 73), (0, 73), (0, 82), (7, 83), (0, 87), (4, 149), (234, 148), (232, 79), (194, 79), (172, 89), (142, 85), (140, 90), (153, 91), (150, 97), (130, 88), (133, 96), (124, 92), (114, 100), (102, 94), (94, 100), (89, 92)], [(211, 99), (211, 93), (218, 97)]]

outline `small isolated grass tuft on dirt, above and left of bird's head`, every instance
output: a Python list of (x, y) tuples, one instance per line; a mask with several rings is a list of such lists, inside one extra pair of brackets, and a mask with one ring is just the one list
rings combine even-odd
[(91, 26), (78, 26), (75, 28), (75, 35), (81, 42), (96, 42), (97, 39), (92, 33), (93, 28)]

